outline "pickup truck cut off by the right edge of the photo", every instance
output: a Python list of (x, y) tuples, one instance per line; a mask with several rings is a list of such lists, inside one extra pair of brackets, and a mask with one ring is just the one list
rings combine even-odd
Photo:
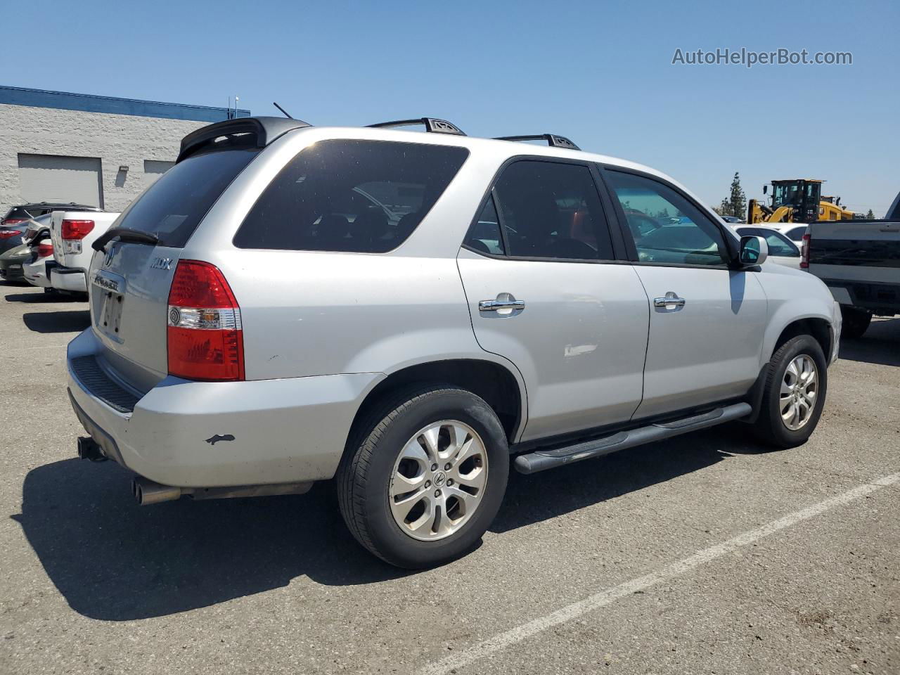
[(873, 316), (900, 314), (900, 194), (885, 220), (810, 223), (802, 257), (841, 303), (846, 337), (861, 338)]

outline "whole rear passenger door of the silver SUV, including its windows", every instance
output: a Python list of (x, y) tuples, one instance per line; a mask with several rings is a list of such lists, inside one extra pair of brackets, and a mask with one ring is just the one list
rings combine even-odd
[(625, 421), (640, 403), (649, 306), (616, 258), (589, 166), (501, 171), (457, 262), (479, 344), (525, 379), (523, 440)]

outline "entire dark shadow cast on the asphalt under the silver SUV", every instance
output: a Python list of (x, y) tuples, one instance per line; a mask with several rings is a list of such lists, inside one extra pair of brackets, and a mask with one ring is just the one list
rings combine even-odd
[[(727, 438), (705, 431), (546, 473), (511, 472), (491, 531), (615, 499), (732, 452), (754, 452)], [(37, 467), (25, 478), (22, 513), (12, 517), (50, 580), (85, 617), (161, 617), (284, 587), (302, 575), (345, 586), (414, 573), (360, 548), (331, 482), (305, 495), (142, 508), (130, 495), (131, 475), (112, 462), (71, 459)]]

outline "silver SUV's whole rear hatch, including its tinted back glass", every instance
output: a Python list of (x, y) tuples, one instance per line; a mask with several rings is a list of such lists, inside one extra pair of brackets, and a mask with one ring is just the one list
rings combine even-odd
[(146, 392), (166, 376), (168, 296), (184, 245), (257, 152), (216, 149), (179, 161), (116, 223), (158, 243), (113, 238), (94, 253), (87, 275), (92, 329), (105, 364), (134, 389)]

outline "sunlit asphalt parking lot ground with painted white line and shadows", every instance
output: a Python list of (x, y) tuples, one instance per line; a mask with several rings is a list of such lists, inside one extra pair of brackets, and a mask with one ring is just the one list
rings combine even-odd
[(511, 473), (482, 546), (400, 572), (333, 489), (140, 508), (76, 459), (85, 302), (0, 286), (0, 673), (900, 673), (900, 320), (806, 446), (740, 424)]

